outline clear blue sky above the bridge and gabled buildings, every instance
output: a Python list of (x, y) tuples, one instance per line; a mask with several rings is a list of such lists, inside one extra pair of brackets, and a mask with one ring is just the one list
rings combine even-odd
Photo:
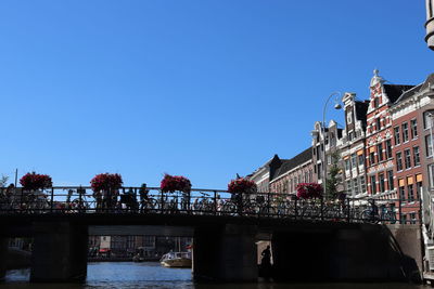
[(424, 0), (3, 0), (0, 174), (226, 188), (307, 148), (328, 95), (368, 97), (374, 68), (422, 82), (424, 19)]

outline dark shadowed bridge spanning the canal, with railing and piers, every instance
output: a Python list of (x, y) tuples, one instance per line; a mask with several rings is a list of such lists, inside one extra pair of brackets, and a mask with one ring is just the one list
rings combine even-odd
[(350, 201), (302, 201), (276, 194), (233, 197), (204, 189), (187, 195), (149, 188), (143, 196), (139, 189), (94, 196), (89, 188), (67, 187), (3, 197), (0, 274), (7, 239), (28, 236), (34, 238), (31, 281), (82, 281), (88, 235), (117, 232), (192, 236), (197, 280), (257, 280), (258, 240), (271, 240), (277, 280), (420, 277), (419, 225), (366, 223), (360, 203), (356, 208)]

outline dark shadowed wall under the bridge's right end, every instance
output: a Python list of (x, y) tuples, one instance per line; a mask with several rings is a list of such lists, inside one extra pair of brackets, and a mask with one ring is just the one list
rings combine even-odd
[(421, 281), (420, 228), (359, 224), (275, 232), (273, 275), (296, 281)]

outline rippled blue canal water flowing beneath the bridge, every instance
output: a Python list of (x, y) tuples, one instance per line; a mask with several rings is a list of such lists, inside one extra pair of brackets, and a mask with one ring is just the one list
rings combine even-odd
[(0, 284), (5, 288), (155, 288), (155, 289), (417, 289), (427, 288), (409, 284), (194, 284), (190, 268), (166, 268), (157, 262), (102, 262), (89, 263), (87, 283), (29, 284), (29, 270), (9, 271)]

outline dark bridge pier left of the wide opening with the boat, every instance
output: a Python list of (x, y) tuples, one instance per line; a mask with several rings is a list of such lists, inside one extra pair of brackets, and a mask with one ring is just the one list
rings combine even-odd
[(30, 281), (85, 281), (88, 227), (72, 222), (34, 224)]

